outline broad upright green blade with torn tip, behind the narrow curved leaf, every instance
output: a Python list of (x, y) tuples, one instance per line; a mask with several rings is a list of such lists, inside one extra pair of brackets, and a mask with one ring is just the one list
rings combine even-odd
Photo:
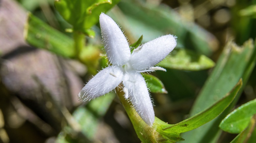
[[(193, 116), (198, 112), (208, 108), (217, 100), (223, 98), (242, 77), (245, 84), (255, 66), (256, 61), (256, 43), (253, 45), (253, 40), (248, 40), (242, 47), (237, 46), (232, 41), (229, 41), (220, 55), (220, 58), (208, 77), (206, 83), (201, 90), (197, 100), (195, 101), (190, 115)], [(242, 89), (244, 86), (242, 87)], [(214, 143), (218, 140), (220, 129), (219, 124), (222, 119), (235, 106), (235, 103), (241, 95), (241, 91), (234, 102), (216, 119), (207, 124), (182, 134), (189, 143), (209, 142)], [(185, 141), (186, 142), (186, 141)]]

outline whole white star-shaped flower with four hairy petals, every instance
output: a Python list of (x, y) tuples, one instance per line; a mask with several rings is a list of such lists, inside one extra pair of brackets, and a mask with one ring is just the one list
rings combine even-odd
[(144, 78), (140, 72), (165, 69), (153, 67), (176, 46), (176, 37), (165, 35), (149, 41), (133, 51), (118, 25), (106, 14), (99, 16), (102, 41), (108, 60), (112, 64), (99, 71), (80, 91), (82, 101), (90, 101), (104, 95), (121, 82), (125, 98), (131, 101), (139, 116), (152, 126), (155, 119), (153, 105)]

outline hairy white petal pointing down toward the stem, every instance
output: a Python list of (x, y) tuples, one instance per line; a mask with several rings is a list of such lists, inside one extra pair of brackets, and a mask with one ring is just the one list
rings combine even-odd
[(141, 119), (149, 126), (152, 126), (155, 113), (146, 82), (142, 75), (136, 72), (126, 73), (123, 77), (123, 85), (128, 88), (128, 98)]

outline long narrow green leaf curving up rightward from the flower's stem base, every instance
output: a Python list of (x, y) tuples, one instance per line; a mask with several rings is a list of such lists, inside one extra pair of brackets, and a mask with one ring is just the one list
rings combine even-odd
[(203, 124), (219, 116), (228, 107), (228, 105), (232, 103), (241, 87), (242, 79), (239, 80), (239, 82), (232, 89), (232, 91), (227, 93), (224, 98), (213, 104), (208, 109), (201, 111), (193, 117), (185, 119), (175, 125), (164, 126), (161, 130), (158, 131), (160, 132), (160, 134), (165, 136), (168, 136), (169, 134), (180, 135), (181, 133), (188, 132), (202, 126)]

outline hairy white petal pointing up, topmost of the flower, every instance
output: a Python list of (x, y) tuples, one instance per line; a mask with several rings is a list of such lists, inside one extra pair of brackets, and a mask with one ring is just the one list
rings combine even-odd
[(102, 41), (105, 46), (107, 56), (113, 65), (125, 64), (131, 51), (129, 44), (118, 25), (104, 13), (99, 16)]

